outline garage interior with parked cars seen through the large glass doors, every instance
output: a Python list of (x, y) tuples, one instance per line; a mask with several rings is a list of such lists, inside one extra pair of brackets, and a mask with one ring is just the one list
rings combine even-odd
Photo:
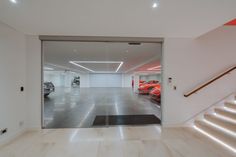
[[(161, 123), (162, 43), (42, 41), (43, 128)], [(47, 89), (48, 88), (48, 89)]]

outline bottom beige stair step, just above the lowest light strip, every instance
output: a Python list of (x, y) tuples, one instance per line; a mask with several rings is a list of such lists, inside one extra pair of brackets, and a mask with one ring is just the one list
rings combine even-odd
[(228, 144), (232, 148), (236, 147), (236, 143), (235, 143), (236, 137), (231, 136), (201, 120), (196, 120), (194, 124), (196, 127), (200, 128), (201, 130), (205, 131), (211, 136), (217, 138), (218, 140), (223, 141), (224, 143)]

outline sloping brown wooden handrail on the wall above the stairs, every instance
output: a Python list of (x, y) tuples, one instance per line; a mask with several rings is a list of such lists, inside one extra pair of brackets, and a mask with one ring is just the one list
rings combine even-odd
[(200, 86), (194, 88), (193, 90), (187, 92), (184, 94), (184, 97), (189, 97), (192, 94), (198, 92), (199, 90), (205, 88), (206, 86), (212, 84), (213, 82), (215, 82), (216, 80), (220, 79), (221, 77), (227, 75), (228, 73), (230, 73), (231, 71), (234, 71), (236, 69), (236, 66), (231, 67), (229, 69), (227, 69), (226, 71), (224, 71), (223, 73), (217, 75), (216, 77), (213, 77), (212, 79), (210, 79), (209, 81), (207, 81), (206, 83), (201, 84)]

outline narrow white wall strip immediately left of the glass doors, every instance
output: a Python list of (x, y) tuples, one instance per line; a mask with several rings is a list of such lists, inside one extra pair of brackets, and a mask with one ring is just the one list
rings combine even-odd
[(29, 128), (41, 128), (41, 42), (26, 36), (27, 105)]

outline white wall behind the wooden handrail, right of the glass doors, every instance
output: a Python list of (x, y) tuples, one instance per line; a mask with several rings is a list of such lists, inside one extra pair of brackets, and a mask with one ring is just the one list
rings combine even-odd
[[(236, 64), (236, 27), (222, 27), (199, 39), (167, 38), (164, 43), (163, 122), (183, 124), (236, 90), (236, 72), (189, 98), (183, 94)], [(172, 85), (167, 84), (173, 78)], [(177, 90), (173, 90), (173, 85)]]

